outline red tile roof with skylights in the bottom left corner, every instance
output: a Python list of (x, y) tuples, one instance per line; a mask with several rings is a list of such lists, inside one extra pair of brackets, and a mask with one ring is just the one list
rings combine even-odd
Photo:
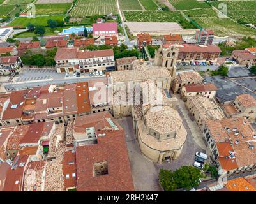
[(15, 161), (17, 161), (15, 169), (11, 170), (9, 168), (7, 172), (4, 191), (22, 191), (24, 171), (26, 170), (29, 156), (16, 156), (14, 163)]

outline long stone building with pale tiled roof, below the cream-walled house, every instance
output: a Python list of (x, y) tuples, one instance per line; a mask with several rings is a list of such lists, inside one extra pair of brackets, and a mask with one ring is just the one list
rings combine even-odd
[(200, 130), (204, 129), (206, 122), (211, 119), (222, 119), (225, 115), (222, 110), (204, 96), (193, 96), (188, 98), (186, 107), (193, 115)]

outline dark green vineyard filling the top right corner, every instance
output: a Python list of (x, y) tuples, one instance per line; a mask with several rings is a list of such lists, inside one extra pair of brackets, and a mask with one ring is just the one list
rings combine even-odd
[[(213, 1), (213, 6), (227, 5), (227, 16), (241, 24), (256, 25), (256, 1)], [(221, 9), (221, 8), (220, 8)]]

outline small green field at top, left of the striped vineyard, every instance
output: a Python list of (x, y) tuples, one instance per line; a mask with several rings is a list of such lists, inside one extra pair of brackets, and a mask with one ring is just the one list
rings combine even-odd
[(63, 14), (72, 4), (36, 4), (36, 15)]

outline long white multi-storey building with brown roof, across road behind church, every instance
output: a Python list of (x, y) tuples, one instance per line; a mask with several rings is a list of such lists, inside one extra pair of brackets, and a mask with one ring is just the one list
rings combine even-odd
[(113, 50), (86, 51), (79, 48), (59, 48), (55, 61), (57, 73), (115, 70)]

